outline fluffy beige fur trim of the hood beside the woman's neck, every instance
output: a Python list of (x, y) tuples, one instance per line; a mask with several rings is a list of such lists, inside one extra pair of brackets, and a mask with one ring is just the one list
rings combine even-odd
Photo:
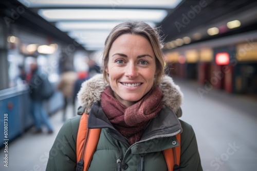
[[(86, 113), (89, 113), (94, 102), (101, 100), (101, 94), (107, 86), (108, 84), (103, 80), (103, 74), (97, 74), (82, 83), (82, 87), (78, 93), (78, 100)], [(177, 117), (181, 117), (182, 112), (180, 105), (182, 103), (183, 94), (179, 86), (174, 83), (171, 77), (166, 75), (162, 78), (160, 89), (163, 93), (163, 104), (172, 109)]]

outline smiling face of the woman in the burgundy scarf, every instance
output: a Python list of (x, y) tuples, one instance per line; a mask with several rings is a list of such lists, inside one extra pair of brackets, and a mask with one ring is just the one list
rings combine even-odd
[(153, 87), (156, 72), (155, 54), (150, 42), (143, 36), (123, 34), (109, 51), (109, 83), (115, 97), (131, 106)]

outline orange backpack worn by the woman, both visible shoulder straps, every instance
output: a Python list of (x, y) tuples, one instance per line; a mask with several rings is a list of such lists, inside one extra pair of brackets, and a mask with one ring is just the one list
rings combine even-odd
[[(86, 171), (95, 153), (101, 129), (87, 128), (88, 115), (83, 113), (77, 135), (77, 167), (76, 171)], [(168, 148), (163, 151), (169, 171), (179, 171), (180, 163), (180, 134), (176, 135), (179, 146)], [(85, 155), (86, 154), (86, 155)]]

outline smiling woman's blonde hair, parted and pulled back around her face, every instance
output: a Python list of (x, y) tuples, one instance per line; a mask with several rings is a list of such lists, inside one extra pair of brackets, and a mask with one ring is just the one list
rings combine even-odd
[(105, 71), (105, 69), (108, 66), (108, 58), (109, 58), (109, 51), (112, 47), (113, 42), (118, 38), (119, 36), (123, 34), (136, 34), (141, 35), (149, 40), (154, 54), (156, 56), (156, 77), (154, 84), (159, 85), (161, 82), (161, 78), (164, 75), (164, 57), (163, 53), (161, 51), (162, 45), (159, 33), (157, 29), (153, 29), (148, 24), (144, 22), (124, 22), (119, 25), (117, 25), (111, 33), (107, 36), (105, 40), (105, 47), (103, 51), (103, 67), (102, 67), (102, 73), (104, 76), (104, 80), (109, 83), (108, 81), (108, 73)]

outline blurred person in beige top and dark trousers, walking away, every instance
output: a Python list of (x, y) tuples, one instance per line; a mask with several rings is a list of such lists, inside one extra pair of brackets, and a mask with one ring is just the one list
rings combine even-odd
[(57, 86), (57, 89), (63, 94), (63, 121), (66, 120), (68, 105), (72, 106), (72, 111), (75, 113), (74, 84), (77, 77), (78, 76), (75, 71), (65, 69)]

